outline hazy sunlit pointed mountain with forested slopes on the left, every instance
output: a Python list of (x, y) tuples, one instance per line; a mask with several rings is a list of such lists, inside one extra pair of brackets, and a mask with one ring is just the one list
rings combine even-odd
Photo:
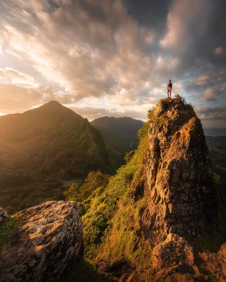
[(89, 171), (110, 169), (100, 132), (57, 101), (1, 116), (0, 130), (0, 206), (10, 206), (9, 211), (58, 194), (56, 199), (64, 199), (57, 178), (84, 178)]

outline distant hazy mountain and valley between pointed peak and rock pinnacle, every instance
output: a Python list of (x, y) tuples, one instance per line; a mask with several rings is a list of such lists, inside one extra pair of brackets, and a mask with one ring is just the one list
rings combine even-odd
[(137, 132), (143, 126), (142, 121), (130, 117), (103, 116), (90, 122), (102, 134), (110, 159), (115, 169), (124, 164), (125, 154), (136, 150)]

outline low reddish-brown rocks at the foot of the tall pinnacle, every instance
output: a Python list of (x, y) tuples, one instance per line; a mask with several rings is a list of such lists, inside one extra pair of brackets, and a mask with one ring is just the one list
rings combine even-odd
[(184, 238), (170, 233), (165, 242), (155, 246), (152, 258), (154, 282), (226, 281), (226, 244), (217, 254), (195, 256)]

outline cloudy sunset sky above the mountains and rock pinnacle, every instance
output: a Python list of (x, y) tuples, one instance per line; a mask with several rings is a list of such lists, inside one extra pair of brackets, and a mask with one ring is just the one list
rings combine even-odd
[(51, 100), (147, 120), (176, 93), (226, 127), (226, 1), (1, 0), (0, 114)]

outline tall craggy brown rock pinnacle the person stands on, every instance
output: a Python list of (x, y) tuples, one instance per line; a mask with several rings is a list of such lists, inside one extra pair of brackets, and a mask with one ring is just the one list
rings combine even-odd
[(142, 216), (153, 243), (169, 233), (198, 236), (217, 222), (218, 198), (200, 120), (181, 99), (164, 99), (149, 128), (146, 209)]

